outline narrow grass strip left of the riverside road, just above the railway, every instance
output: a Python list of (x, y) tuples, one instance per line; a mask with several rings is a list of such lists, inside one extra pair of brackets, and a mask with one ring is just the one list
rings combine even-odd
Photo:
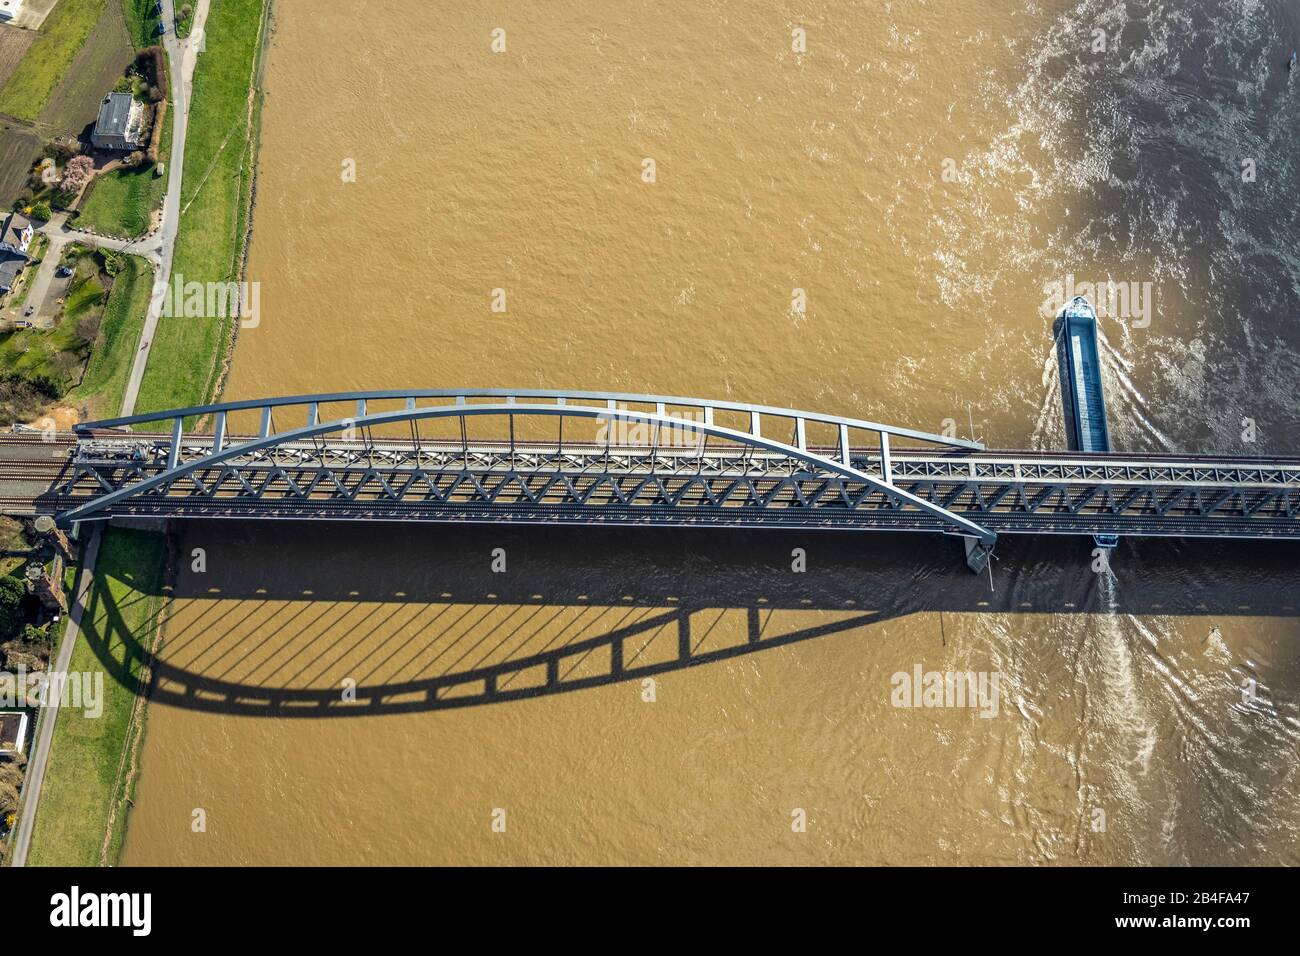
[(90, 418), (112, 418), (122, 408), (122, 394), (152, 289), (153, 269), (150, 264), (139, 256), (127, 256), (126, 268), (117, 273), (104, 306), (99, 342), (86, 365), (86, 376), (68, 394), (69, 402), (88, 406)]

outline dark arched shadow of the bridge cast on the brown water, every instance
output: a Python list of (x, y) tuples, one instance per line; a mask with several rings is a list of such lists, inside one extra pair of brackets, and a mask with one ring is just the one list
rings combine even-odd
[(133, 632), (107, 588), (83, 633), (124, 685), (146, 665), (153, 702), (251, 717), (521, 700), (927, 611), (1294, 619), (1300, 606), (1300, 546), (1286, 542), (1123, 542), (1108, 587), (1082, 538), (1004, 538), (993, 591), (958, 541), (930, 535), (192, 522), (169, 545), (169, 583), (127, 598), (161, 598), (157, 656), (156, 619)]

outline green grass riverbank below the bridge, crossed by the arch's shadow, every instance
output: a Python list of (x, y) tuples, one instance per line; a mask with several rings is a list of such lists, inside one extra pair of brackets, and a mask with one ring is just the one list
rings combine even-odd
[(81, 710), (58, 711), (27, 856), (31, 866), (98, 866), (104, 856), (108, 864), (117, 860), (134, 786), (130, 754), (143, 723), (143, 710), (136, 709), (139, 646), (153, 643), (164, 559), (161, 535), (104, 532), (69, 666), (73, 672), (104, 672), (104, 713), (91, 719)]

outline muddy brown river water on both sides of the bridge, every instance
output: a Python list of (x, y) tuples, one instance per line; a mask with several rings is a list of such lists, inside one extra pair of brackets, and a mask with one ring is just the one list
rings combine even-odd
[[(1074, 277), (1138, 291), (1101, 323), (1115, 447), (1295, 451), (1294, 12), (812, 7), (277, 0), (226, 397), (654, 392), (1061, 447), (1044, 300)], [(194, 548), (126, 864), (1300, 862), (1294, 546), (1126, 541), (1096, 574), (1004, 540), (992, 591), (928, 536)], [(455, 682), (523, 658), (560, 691)], [(918, 667), (996, 706), (896, 706)], [(390, 692), (322, 715), (348, 680)]]

